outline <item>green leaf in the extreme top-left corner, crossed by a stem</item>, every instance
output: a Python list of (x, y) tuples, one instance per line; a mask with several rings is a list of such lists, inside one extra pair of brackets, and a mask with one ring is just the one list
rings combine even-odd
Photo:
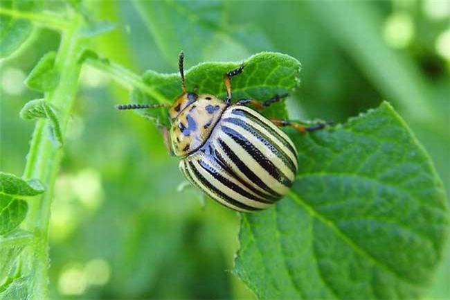
[[(37, 8), (40, 8), (39, 1), (0, 1), (0, 9), (9, 11), (28, 12)], [(33, 24), (29, 20), (0, 14), (0, 58), (5, 58), (17, 51), (30, 37), (32, 30)]]

